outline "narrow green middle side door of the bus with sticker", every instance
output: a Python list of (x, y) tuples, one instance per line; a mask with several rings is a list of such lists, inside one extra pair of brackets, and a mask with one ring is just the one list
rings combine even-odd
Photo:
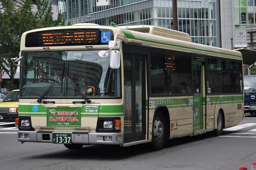
[(202, 62), (193, 61), (193, 130), (203, 129), (203, 69)]

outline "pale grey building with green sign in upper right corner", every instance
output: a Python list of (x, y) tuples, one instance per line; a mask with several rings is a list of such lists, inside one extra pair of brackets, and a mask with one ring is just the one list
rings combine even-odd
[(256, 0), (220, 2), (221, 46), (247, 48), (246, 27), (255, 26)]

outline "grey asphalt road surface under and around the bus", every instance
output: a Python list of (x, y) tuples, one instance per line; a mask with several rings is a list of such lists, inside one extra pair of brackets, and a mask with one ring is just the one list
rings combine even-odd
[(256, 115), (246, 114), (239, 126), (225, 129), (220, 137), (204, 134), (173, 139), (161, 151), (151, 151), (148, 144), (89, 145), (75, 151), (62, 144), (21, 144), (14, 124), (1, 122), (0, 169), (250, 169), (256, 162), (255, 129)]

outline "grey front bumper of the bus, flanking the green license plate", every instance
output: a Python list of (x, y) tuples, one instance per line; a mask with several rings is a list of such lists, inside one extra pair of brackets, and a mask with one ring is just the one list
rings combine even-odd
[[(60, 132), (65, 133), (65, 132)], [(26, 134), (26, 138), (20, 138), (19, 134)], [(43, 139), (43, 135), (48, 136), (49, 139)], [(104, 136), (112, 136), (112, 141), (104, 141)], [(121, 136), (121, 141), (117, 141), (116, 137)], [(121, 145), (124, 144), (124, 133), (92, 133), (92, 132), (73, 132), (72, 133), (72, 144), (106, 144), (106, 145)], [(43, 142), (52, 143), (52, 132), (48, 131), (18, 131), (19, 142)]]

